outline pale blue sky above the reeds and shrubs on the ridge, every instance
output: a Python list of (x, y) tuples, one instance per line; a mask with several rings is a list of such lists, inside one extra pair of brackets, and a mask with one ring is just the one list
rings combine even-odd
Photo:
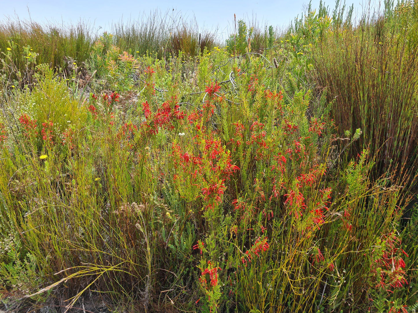
[[(94, 28), (110, 30), (110, 23), (121, 18), (136, 19), (139, 15), (160, 9), (162, 11), (175, 9), (187, 17), (196, 17), (199, 26), (217, 30), (222, 36), (232, 25), (234, 13), (239, 18), (252, 18), (257, 16), (260, 21), (267, 21), (279, 27), (287, 26), (296, 15), (301, 16), (308, 0), (14, 0), (5, 1), (1, 5), (0, 20), (18, 15), (20, 19), (29, 18), (42, 23), (54, 20), (58, 23), (76, 22), (80, 18), (94, 23)], [(354, 3), (357, 12), (361, 13), (363, 7), (368, 6), (367, 0), (347, 0), (347, 5)], [(374, 3), (372, 1), (372, 3)], [(334, 0), (327, 1), (327, 5), (334, 7)], [(319, 0), (312, 0), (312, 6), (317, 8)], [(264, 24), (264, 23), (263, 23)]]

